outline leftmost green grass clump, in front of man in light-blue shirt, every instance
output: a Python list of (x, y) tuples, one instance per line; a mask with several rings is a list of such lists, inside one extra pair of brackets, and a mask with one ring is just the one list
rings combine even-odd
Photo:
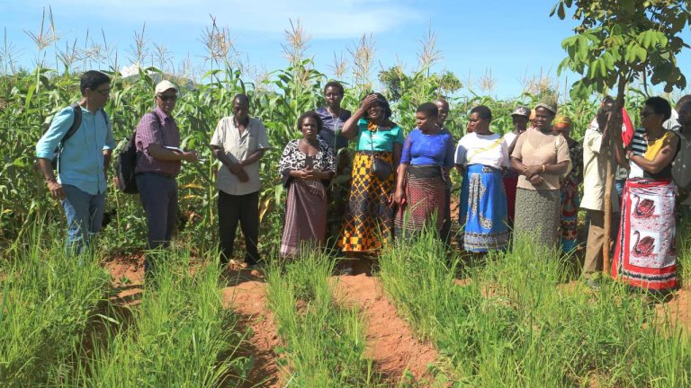
[(41, 225), (0, 260), (0, 385), (58, 384), (71, 373), (110, 276), (68, 256)]

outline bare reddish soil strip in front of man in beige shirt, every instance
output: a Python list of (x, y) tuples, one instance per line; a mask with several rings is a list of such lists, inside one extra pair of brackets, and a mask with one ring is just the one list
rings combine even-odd
[[(223, 304), (240, 316), (240, 324), (252, 329), (247, 338), (247, 356), (254, 358), (252, 370), (244, 387), (279, 387), (280, 369), (274, 348), (281, 340), (274, 317), (266, 305), (266, 283), (246, 278), (244, 274), (230, 277), (230, 286), (223, 288)], [(237, 284), (235, 284), (237, 283)]]

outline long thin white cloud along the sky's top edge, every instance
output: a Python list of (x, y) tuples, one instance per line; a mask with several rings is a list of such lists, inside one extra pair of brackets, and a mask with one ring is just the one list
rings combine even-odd
[(231, 31), (271, 34), (282, 33), (290, 27), (289, 20), (299, 19), (315, 40), (358, 38), (363, 33), (390, 31), (418, 19), (415, 9), (400, 0), (101, 0), (97, 7), (90, 0), (53, 3), (57, 3), (54, 8), (69, 6), (110, 20), (173, 22), (180, 23), (181, 28), (208, 25), (212, 15), (217, 24), (227, 25)]

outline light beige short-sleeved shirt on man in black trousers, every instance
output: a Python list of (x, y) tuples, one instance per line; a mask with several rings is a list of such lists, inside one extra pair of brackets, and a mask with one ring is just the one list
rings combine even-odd
[[(249, 118), (247, 128), (240, 134), (232, 116), (220, 119), (219, 125), (211, 137), (211, 145), (220, 147), (233, 163), (240, 163), (249, 155), (261, 149), (271, 148), (266, 137), (266, 128), (261, 121)], [(241, 182), (230, 172), (229, 168), (221, 165), (216, 178), (216, 187), (229, 195), (241, 196), (262, 189), (259, 180), (259, 163), (252, 163), (243, 167), (249, 181)]]

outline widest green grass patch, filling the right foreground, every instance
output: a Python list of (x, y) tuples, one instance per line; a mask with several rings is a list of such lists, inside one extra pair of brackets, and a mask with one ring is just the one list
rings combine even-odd
[(567, 262), (528, 242), (463, 269), (429, 235), (381, 256), (386, 292), (471, 386), (688, 386), (691, 340), (640, 295), (565, 283)]

